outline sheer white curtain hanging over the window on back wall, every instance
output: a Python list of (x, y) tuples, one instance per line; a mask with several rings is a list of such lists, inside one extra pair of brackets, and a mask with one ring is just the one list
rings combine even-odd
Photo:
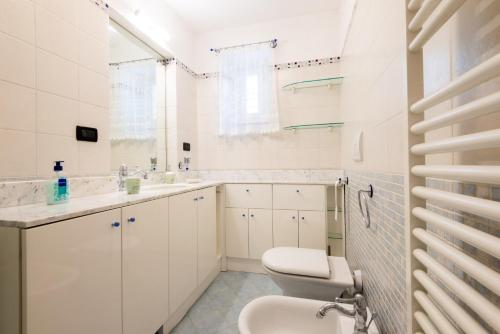
[(268, 44), (221, 51), (219, 135), (279, 130), (273, 49)]

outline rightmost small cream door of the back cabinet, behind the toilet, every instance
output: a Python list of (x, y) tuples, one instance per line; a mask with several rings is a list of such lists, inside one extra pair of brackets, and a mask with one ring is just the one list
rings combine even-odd
[(326, 230), (324, 211), (299, 212), (299, 247), (326, 249)]

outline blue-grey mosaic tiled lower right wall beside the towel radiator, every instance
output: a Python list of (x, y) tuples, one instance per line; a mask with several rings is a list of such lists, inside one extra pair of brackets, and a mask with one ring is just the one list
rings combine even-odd
[[(406, 248), (404, 177), (398, 174), (346, 170), (346, 258), (351, 270), (363, 272), (363, 293), (382, 333), (406, 333)], [(357, 193), (369, 184), (371, 226), (366, 228)]]

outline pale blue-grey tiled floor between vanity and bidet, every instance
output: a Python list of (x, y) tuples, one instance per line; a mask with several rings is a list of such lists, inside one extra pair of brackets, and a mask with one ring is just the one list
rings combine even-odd
[(222, 272), (172, 331), (175, 334), (232, 334), (238, 332), (238, 316), (251, 300), (281, 295), (267, 275)]

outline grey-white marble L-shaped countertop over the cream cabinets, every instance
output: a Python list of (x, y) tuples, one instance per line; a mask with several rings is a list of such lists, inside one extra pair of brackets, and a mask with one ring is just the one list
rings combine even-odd
[(45, 203), (0, 208), (0, 227), (31, 228), (50, 224), (61, 220), (76, 218), (97, 212), (121, 208), (141, 202), (194, 191), (202, 188), (223, 184), (261, 183), (261, 184), (308, 184), (332, 186), (335, 182), (293, 182), (273, 180), (230, 180), (203, 181), (184, 185), (153, 185), (144, 186), (137, 195), (125, 192), (113, 192), (102, 195), (73, 198), (68, 203), (47, 205)]

